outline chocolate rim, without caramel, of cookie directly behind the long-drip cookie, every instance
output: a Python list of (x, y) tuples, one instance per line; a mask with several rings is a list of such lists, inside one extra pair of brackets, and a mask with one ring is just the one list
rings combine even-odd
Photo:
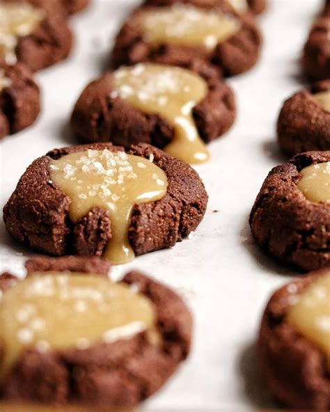
[(200, 0), (187, 0), (185, 3), (233, 15), (240, 20), (241, 29), (211, 51), (205, 47), (169, 44), (153, 47), (150, 42), (143, 39), (143, 33), (139, 28), (139, 16), (144, 11), (155, 9), (157, 6), (142, 6), (135, 10), (118, 33), (111, 56), (111, 67), (118, 68), (120, 65), (134, 65), (146, 61), (194, 67), (194, 65), (203, 62), (206, 65), (217, 66), (226, 76), (233, 76), (249, 70), (256, 64), (260, 52), (261, 37), (251, 16), (239, 16), (224, 3), (217, 3), (215, 6), (208, 2), (202, 3)]

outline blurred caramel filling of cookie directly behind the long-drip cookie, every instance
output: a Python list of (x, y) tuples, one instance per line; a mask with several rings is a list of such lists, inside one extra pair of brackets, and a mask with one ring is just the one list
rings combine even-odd
[(241, 28), (233, 16), (180, 3), (143, 12), (139, 24), (152, 45), (169, 43), (211, 50)]

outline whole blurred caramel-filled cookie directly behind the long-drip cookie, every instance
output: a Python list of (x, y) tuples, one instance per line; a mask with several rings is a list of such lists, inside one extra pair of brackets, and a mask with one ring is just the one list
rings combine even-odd
[(225, 3), (175, 1), (135, 10), (118, 33), (111, 65), (153, 61), (192, 67), (201, 61), (230, 76), (256, 64), (260, 44), (253, 18), (239, 16)]

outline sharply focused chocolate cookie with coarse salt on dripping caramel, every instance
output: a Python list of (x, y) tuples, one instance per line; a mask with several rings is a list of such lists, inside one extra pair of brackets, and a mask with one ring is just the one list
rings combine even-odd
[[(82, 153), (85, 151), (88, 151), (86, 156)], [(110, 239), (113, 246), (121, 247), (118, 239), (122, 236), (127, 240), (125, 251), (131, 253), (131, 258), (134, 253), (142, 255), (174, 246), (187, 237), (203, 219), (207, 205), (207, 193), (198, 174), (189, 165), (150, 145), (132, 146), (128, 153), (127, 164), (123, 149), (111, 143), (97, 143), (53, 150), (34, 161), (3, 209), (10, 235), (20, 243), (50, 255), (88, 256), (107, 254), (108, 249), (111, 252), (108, 248)], [(71, 161), (74, 155), (79, 157), (74, 162), (77, 166), (69, 164), (68, 156)], [(123, 164), (117, 157), (123, 159)], [(132, 172), (129, 163), (132, 158), (137, 159), (137, 168), (141, 171), (149, 173), (151, 170), (151, 176), (142, 179), (140, 175), (136, 176), (139, 174), (137, 168)], [(106, 170), (100, 164), (104, 159), (111, 164)], [(62, 160), (63, 164), (60, 164)], [(117, 167), (118, 174), (113, 172), (112, 164)], [(124, 171), (128, 171), (128, 176)], [(92, 182), (91, 187), (87, 187), (86, 180), (90, 176), (93, 179), (100, 176), (102, 182), (98, 186), (97, 182)], [(115, 176), (115, 181), (111, 176)], [(54, 180), (61, 182), (61, 187), (73, 180), (71, 196), (66, 194), (69, 193), (67, 188), (64, 192)], [(146, 184), (144, 191), (138, 193), (139, 201), (135, 202), (131, 193), (125, 192), (126, 184), (137, 189)], [(121, 203), (120, 189), (126, 193), (131, 202), (129, 205)], [(157, 201), (148, 202), (151, 194), (161, 190)], [(149, 197), (146, 196), (148, 192)], [(141, 203), (143, 199), (147, 203)], [(79, 200), (83, 204), (77, 205)], [(112, 215), (108, 203), (113, 207), (112, 212), (115, 211)], [(126, 209), (127, 206), (130, 209)], [(77, 211), (83, 212), (79, 214)], [(125, 212), (124, 216), (122, 212)], [(123, 225), (118, 227), (118, 222)]]

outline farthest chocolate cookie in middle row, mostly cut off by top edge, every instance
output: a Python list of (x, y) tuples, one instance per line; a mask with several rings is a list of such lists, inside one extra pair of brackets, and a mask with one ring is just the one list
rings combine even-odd
[[(189, 3), (190, 0), (146, 0), (146, 6), (171, 6), (174, 3)], [(230, 5), (238, 14), (260, 14), (266, 8), (266, 0), (194, 0), (199, 6), (208, 4), (212, 7), (225, 3)]]

